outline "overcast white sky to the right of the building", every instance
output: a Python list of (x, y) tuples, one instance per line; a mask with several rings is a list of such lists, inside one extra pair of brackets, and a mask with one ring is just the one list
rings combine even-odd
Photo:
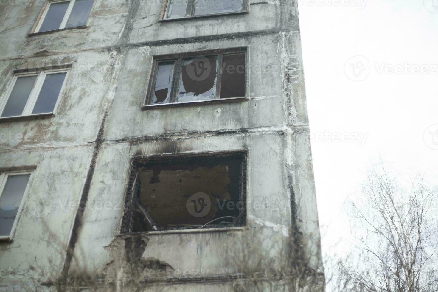
[(379, 155), (438, 181), (438, 0), (298, 1), (323, 251), (339, 252)]

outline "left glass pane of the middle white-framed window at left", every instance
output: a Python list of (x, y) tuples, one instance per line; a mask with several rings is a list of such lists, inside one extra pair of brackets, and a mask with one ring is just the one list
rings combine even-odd
[(29, 99), (35, 79), (36, 75), (17, 78), (1, 116), (21, 116), (26, 102)]

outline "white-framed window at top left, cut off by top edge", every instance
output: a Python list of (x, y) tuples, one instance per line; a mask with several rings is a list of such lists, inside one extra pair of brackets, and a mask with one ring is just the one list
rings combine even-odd
[(49, 1), (35, 32), (86, 25), (94, 0)]

